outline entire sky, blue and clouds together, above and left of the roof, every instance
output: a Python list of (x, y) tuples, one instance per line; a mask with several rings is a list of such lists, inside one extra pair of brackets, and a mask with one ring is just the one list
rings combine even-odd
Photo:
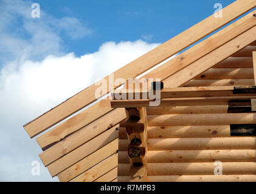
[(22, 125), (232, 2), (0, 0), (0, 181), (57, 181)]

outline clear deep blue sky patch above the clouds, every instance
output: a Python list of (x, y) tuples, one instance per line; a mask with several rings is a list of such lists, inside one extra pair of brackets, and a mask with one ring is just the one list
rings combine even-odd
[[(212, 15), (217, 2), (224, 7), (234, 0), (95, 0), (36, 1), (45, 12), (56, 18), (72, 16), (93, 30), (90, 36), (72, 40), (64, 34), (66, 52), (80, 56), (92, 53), (106, 41), (165, 42), (171, 37)], [(41, 18), (43, 19), (43, 18)]]

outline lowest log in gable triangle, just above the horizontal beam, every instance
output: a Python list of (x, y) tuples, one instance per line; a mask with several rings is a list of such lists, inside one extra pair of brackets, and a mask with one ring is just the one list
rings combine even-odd
[(254, 79), (192, 79), (183, 87), (254, 85)]

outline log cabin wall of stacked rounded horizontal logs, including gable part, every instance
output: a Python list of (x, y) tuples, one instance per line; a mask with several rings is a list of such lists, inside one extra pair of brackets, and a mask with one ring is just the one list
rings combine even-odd
[[(253, 42), (182, 87), (254, 85), (255, 45)], [(147, 181), (256, 181), (256, 125), (253, 133), (234, 133), (234, 124), (243, 130), (246, 124), (256, 124), (250, 102), (245, 106), (249, 112), (239, 107), (238, 112), (230, 112), (237, 105), (228, 102), (148, 107)], [(121, 127), (118, 181), (130, 181), (127, 146), (126, 130)], [(214, 175), (215, 161), (222, 162), (223, 176)]]

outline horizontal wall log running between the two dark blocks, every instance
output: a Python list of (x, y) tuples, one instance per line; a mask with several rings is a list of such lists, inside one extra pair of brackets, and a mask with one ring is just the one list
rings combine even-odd
[(254, 124), (256, 113), (148, 115), (149, 126)]

